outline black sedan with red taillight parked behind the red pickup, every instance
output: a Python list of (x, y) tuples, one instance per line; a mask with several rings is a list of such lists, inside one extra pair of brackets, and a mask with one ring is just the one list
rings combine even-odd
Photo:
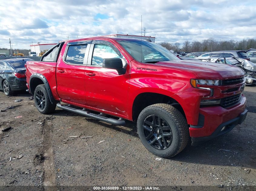
[(10, 96), (14, 91), (26, 90), (25, 63), (29, 58), (10, 58), (0, 60), (0, 90)]

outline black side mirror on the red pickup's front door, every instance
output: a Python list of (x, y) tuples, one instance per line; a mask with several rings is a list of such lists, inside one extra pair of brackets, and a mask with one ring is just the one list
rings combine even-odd
[(126, 72), (126, 68), (123, 68), (123, 62), (120, 58), (105, 58), (102, 68), (115, 69), (119, 75), (125, 74)]

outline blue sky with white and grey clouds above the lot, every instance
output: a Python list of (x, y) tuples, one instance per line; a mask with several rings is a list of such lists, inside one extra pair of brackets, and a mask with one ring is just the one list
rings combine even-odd
[[(0, 0), (0, 48), (109, 34), (156, 42), (256, 38), (255, 0)], [(144, 34), (144, 31), (143, 31)]]

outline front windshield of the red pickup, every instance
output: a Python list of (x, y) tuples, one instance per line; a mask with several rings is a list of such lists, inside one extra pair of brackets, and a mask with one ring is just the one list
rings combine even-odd
[(156, 63), (169, 60), (180, 60), (173, 53), (156, 43), (144, 40), (118, 40), (117, 42), (139, 62)]

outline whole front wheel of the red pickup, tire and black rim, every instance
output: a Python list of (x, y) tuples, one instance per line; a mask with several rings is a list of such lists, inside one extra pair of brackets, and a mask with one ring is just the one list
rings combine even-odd
[(158, 103), (142, 110), (137, 129), (145, 148), (160, 157), (173, 157), (188, 144), (186, 119), (179, 110), (168, 104)]

